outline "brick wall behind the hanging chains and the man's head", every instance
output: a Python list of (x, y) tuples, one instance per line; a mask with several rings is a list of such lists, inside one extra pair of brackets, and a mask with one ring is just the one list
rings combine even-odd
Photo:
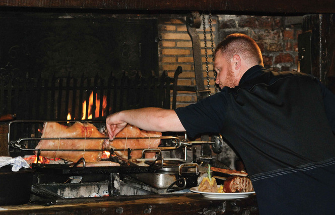
[[(169, 76), (174, 75), (177, 66), (182, 66), (183, 72), (178, 79), (179, 85), (195, 85), (192, 43), (186, 29), (186, 17), (181, 15), (162, 15), (158, 18), (159, 69), (167, 70)], [(298, 69), (298, 35), (301, 24), (288, 22), (286, 17), (260, 17), (219, 15), (212, 17), (214, 43), (218, 44), (228, 34), (244, 33), (253, 38), (259, 45), (264, 60), (264, 66), (274, 71), (292, 71)], [(210, 88), (214, 88), (214, 72), (210, 42), (210, 28), (206, 16), (206, 37), (208, 46)], [(206, 58), (204, 49), (203, 26), (197, 29), (202, 40), (202, 59), (204, 83), (207, 85)], [(177, 107), (196, 102), (194, 92), (179, 91)]]

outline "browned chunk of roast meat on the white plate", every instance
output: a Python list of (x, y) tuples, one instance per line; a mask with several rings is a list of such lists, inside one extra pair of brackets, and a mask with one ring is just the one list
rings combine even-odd
[(228, 177), (223, 183), (224, 192), (251, 192), (253, 186), (250, 178), (242, 176)]

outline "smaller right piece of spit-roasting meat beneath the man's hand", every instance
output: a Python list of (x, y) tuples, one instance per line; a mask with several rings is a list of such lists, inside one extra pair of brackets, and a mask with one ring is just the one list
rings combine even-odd
[[(115, 154), (122, 160), (128, 159), (127, 149), (149, 149), (157, 148), (160, 144), (161, 132), (152, 132), (140, 130), (136, 126), (127, 125), (122, 129), (113, 141), (106, 144), (107, 149), (123, 149), (122, 151), (115, 151)], [(153, 138), (151, 138), (153, 137)], [(117, 139), (125, 138), (125, 139)], [(147, 139), (126, 139), (126, 138), (147, 138)], [(131, 158), (141, 158), (142, 150), (134, 150), (130, 154)], [(146, 158), (154, 158), (155, 153), (146, 153)]]

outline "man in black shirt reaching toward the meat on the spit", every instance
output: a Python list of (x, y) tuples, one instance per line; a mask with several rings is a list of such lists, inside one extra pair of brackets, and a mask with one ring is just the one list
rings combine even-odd
[(250, 37), (229, 35), (215, 51), (221, 92), (176, 110), (123, 111), (106, 119), (110, 138), (126, 125), (222, 134), (242, 158), (260, 214), (333, 214), (335, 96), (315, 78), (271, 72)]

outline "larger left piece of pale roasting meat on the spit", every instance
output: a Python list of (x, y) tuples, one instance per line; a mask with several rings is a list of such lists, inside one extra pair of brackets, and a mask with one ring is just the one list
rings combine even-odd
[[(42, 138), (101, 138), (101, 139), (59, 139), (41, 140), (36, 149), (53, 149), (41, 151), (41, 156), (47, 158), (62, 158), (77, 162), (84, 158), (87, 162), (96, 162), (101, 159), (101, 151), (86, 151), (87, 149), (102, 149), (105, 135), (90, 123), (76, 122), (72, 126), (63, 126), (55, 122), (46, 122), (42, 130)], [(60, 149), (81, 149), (83, 151), (58, 151)], [(37, 154), (37, 151), (34, 151)]]

